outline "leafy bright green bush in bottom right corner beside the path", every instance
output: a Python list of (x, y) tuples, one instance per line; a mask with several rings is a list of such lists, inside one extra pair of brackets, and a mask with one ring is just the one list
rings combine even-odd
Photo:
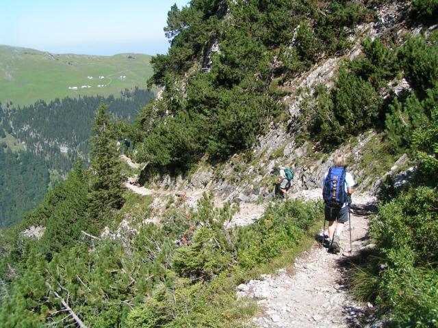
[(421, 187), (379, 208), (371, 221), (378, 241), (353, 290), (389, 312), (395, 327), (437, 327), (437, 189)]

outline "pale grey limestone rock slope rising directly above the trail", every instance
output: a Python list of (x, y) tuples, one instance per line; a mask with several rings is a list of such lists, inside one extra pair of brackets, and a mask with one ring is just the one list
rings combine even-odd
[[(333, 87), (342, 61), (361, 56), (361, 41), (364, 38), (374, 39), (389, 34), (392, 36), (394, 27), (396, 27), (397, 33), (394, 34), (394, 38), (401, 41), (404, 32), (409, 30), (404, 20), (409, 12), (410, 3), (411, 1), (408, 0), (380, 1), (378, 7), (375, 8), (376, 19), (373, 22), (358, 25), (350, 31), (352, 32), (350, 36), (352, 46), (347, 53), (321, 59), (307, 72), (282, 81), (279, 87), (285, 92), (285, 96), (280, 101), (285, 105), (285, 113), (289, 114), (289, 118), (283, 123), (270, 122), (265, 134), (257, 138), (252, 148), (235, 154), (226, 163), (212, 165), (207, 158), (204, 158), (195, 172), (174, 171), (155, 176), (155, 178), (149, 177), (146, 188), (151, 188), (161, 195), (187, 191), (191, 197), (188, 197), (185, 204), (190, 204), (193, 208), (196, 207), (196, 201), (204, 191), (214, 193), (215, 204), (222, 205), (230, 201), (240, 203), (243, 208), (245, 206), (249, 208), (248, 204), (266, 202), (274, 197), (278, 168), (286, 166), (292, 168), (295, 175), (289, 195), (318, 199), (324, 174), (328, 172), (329, 167), (333, 166), (333, 159), (337, 154), (344, 154), (348, 158), (350, 162), (348, 171), (358, 182), (357, 191), (370, 191), (376, 195), (381, 189), (383, 180), (388, 177), (393, 178), (397, 186), (404, 184), (409, 179), (410, 172), (414, 170), (412, 168), (411, 171), (402, 172), (409, 161), (406, 155), (402, 156), (389, 169), (389, 172), (379, 173), (380, 177), (370, 174), (370, 170), (363, 167), (363, 159), (367, 152), (370, 152), (372, 142), (378, 137), (373, 131), (365, 132), (354, 141), (346, 142), (331, 152), (324, 152), (317, 142), (303, 141), (298, 136), (302, 133), (302, 124), (305, 124), (302, 122), (305, 118), (303, 114), (307, 109), (305, 104), (307, 100), (312, 100), (316, 85)], [(223, 19), (228, 19), (228, 15), (232, 17), (228, 4), (227, 1), (221, 2), (220, 16), (223, 16)], [(288, 46), (294, 46), (294, 42), (294, 37), (292, 37)], [(220, 39), (212, 35), (204, 57), (199, 63), (204, 72), (210, 70), (211, 56), (215, 53), (220, 53)], [(278, 63), (279, 59), (274, 59), (273, 65)], [(184, 79), (188, 79), (189, 76), (188, 72)], [(185, 90), (185, 82), (179, 83), (181, 86), (178, 90)], [(409, 82), (404, 79), (390, 81), (388, 86), (396, 94), (411, 90)], [(381, 96), (385, 97), (389, 94), (381, 94)], [(140, 176), (140, 184), (144, 182)], [(249, 222), (257, 215), (259, 215), (259, 209), (246, 210), (244, 215), (236, 217), (236, 222)]]

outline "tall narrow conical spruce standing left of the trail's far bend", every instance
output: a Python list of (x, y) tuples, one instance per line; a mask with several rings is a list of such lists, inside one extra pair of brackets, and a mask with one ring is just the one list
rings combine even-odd
[(88, 212), (97, 227), (112, 209), (123, 205), (122, 175), (116, 139), (105, 104), (99, 105), (91, 137), (91, 191)]

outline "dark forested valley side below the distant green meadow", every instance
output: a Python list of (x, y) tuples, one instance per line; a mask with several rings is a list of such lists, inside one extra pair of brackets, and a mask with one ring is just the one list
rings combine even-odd
[(151, 98), (153, 92), (136, 88), (123, 90), (117, 98), (41, 100), (25, 107), (0, 104), (0, 227), (18, 223), (66, 177), (75, 161), (88, 165), (91, 126), (101, 102), (123, 130), (123, 122), (133, 122)]

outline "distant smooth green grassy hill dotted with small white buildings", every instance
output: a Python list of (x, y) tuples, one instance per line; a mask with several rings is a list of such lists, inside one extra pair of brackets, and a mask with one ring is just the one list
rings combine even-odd
[[(129, 55), (133, 58), (128, 58)], [(30, 105), (36, 100), (65, 96), (118, 96), (120, 90), (145, 87), (152, 74), (151, 56), (119, 54), (111, 57), (92, 55), (53, 55), (34, 49), (0, 45), (0, 101)], [(120, 80), (125, 75), (125, 81)], [(87, 77), (92, 76), (89, 80)], [(105, 77), (100, 80), (99, 76)], [(89, 89), (81, 89), (90, 85)], [(97, 87), (97, 85), (106, 85)], [(78, 90), (68, 90), (68, 87)]]

